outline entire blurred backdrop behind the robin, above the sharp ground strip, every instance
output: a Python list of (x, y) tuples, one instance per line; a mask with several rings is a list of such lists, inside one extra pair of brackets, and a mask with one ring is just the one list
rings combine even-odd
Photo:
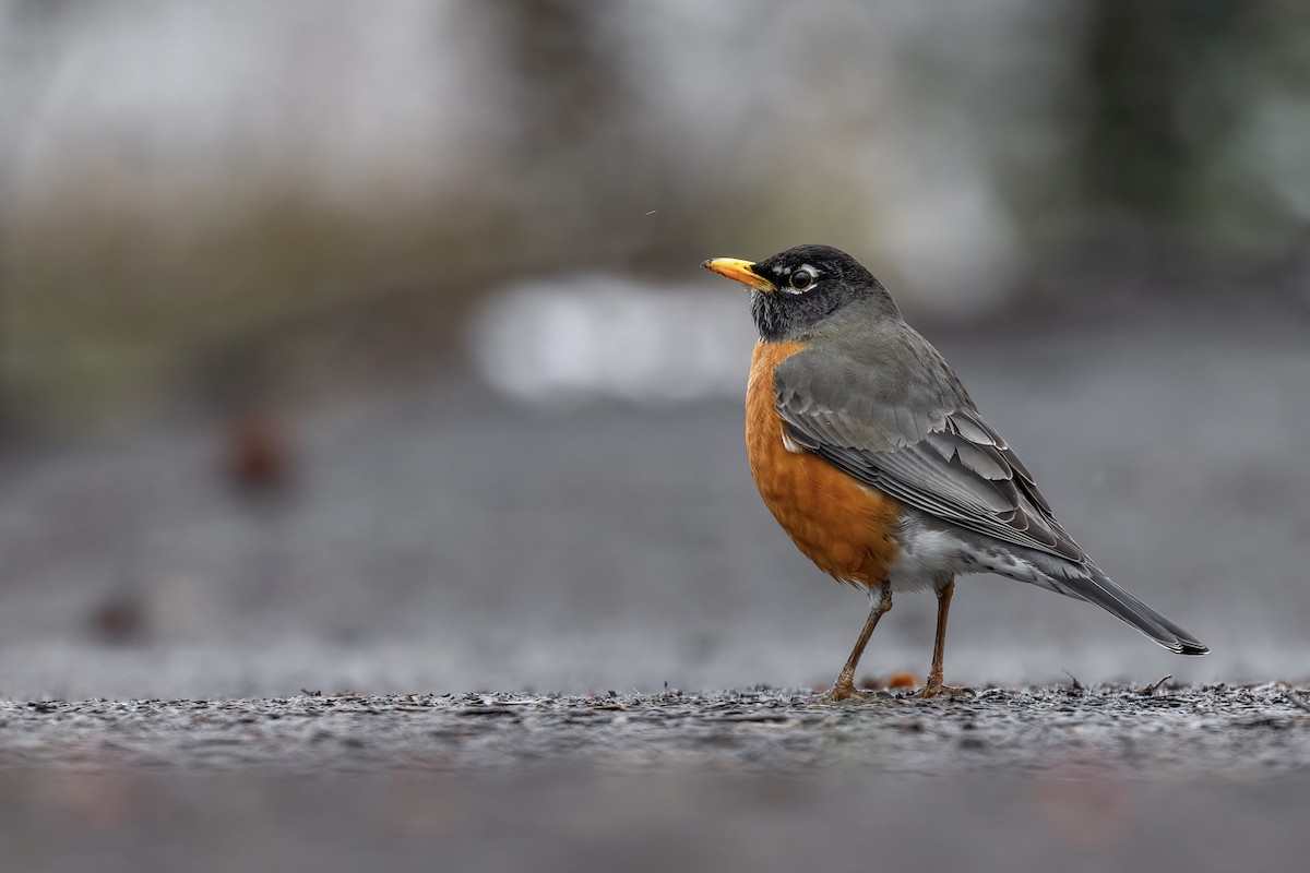
[(698, 267), (800, 242), (1214, 649), (980, 577), (955, 679), (1310, 675), (1300, 4), (8, 0), (0, 694), (831, 681)]

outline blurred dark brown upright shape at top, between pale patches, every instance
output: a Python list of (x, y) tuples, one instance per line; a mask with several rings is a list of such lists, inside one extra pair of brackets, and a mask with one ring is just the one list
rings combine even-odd
[(627, 266), (685, 243), (692, 223), (676, 217), (692, 211), (676, 185), (685, 171), (647, 127), (621, 4), (527, 0), (482, 4), (479, 14), (508, 73), (504, 162), (537, 259)]

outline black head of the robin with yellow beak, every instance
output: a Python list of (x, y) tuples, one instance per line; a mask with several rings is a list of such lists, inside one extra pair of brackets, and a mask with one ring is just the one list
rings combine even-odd
[(900, 318), (882, 283), (832, 246), (796, 246), (758, 263), (711, 258), (701, 266), (751, 287), (751, 314), (766, 340), (800, 339), (853, 304), (869, 318)]

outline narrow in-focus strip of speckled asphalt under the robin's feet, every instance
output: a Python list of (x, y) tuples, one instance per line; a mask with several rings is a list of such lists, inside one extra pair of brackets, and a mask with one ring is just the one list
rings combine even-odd
[(1066, 766), (1310, 776), (1310, 698), (1282, 685), (0, 703), (9, 767), (941, 776)]

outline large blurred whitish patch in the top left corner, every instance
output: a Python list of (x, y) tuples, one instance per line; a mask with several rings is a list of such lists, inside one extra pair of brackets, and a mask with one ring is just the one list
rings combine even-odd
[[(465, 20), (427, 0), (71, 5), (29, 114), (0, 111), (0, 157), (38, 196), (86, 164), (132, 170), (145, 194), (274, 168), (346, 204), (360, 177), (453, 175), (486, 127), (468, 81), (490, 62), (466, 26), (452, 35)], [(16, 21), (0, 5), (0, 34)]]

